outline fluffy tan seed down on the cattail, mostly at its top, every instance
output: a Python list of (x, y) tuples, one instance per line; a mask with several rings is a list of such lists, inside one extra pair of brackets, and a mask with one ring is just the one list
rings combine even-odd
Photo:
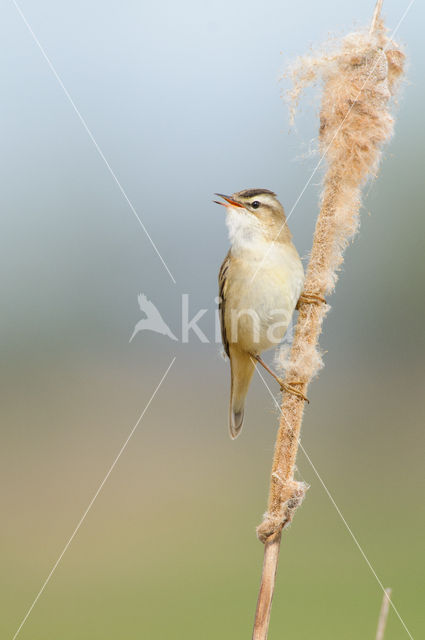
[[(304, 89), (319, 82), (323, 87), (319, 148), (327, 171), (317, 250), (311, 254), (305, 288), (325, 296), (335, 288), (344, 250), (358, 230), (361, 188), (376, 177), (382, 146), (393, 133), (388, 102), (402, 76), (405, 56), (388, 40), (382, 22), (377, 27), (373, 34), (357, 32), (334, 41), (331, 51), (300, 57), (289, 72), (291, 121)], [(328, 310), (323, 307), (323, 315)], [(291, 377), (303, 372), (311, 379), (323, 366), (311, 342), (305, 342), (297, 361), (293, 356), (282, 347), (276, 359), (277, 367)]]

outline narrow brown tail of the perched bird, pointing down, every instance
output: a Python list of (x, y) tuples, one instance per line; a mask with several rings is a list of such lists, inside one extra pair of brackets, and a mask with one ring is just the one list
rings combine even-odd
[(239, 349), (230, 347), (230, 437), (234, 440), (239, 435), (244, 416), (245, 398), (254, 373), (255, 364), (252, 357)]

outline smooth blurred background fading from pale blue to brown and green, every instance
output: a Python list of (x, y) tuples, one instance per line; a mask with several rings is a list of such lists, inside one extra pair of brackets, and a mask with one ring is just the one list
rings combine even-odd
[[(407, 5), (385, 0), (390, 30)], [(368, 24), (374, 1), (20, 6), (176, 282), (3, 3), (0, 635), (13, 637), (175, 356), (19, 637), (249, 638), (277, 412), (255, 378), (230, 441), (229, 367), (214, 343), (228, 240), (212, 198), (266, 187), (293, 206), (318, 161), (318, 102), (308, 93), (289, 131), (279, 78), (329, 34)], [(424, 17), (414, 3), (398, 31), (409, 67), (396, 133), (330, 300), (302, 436), (414, 638), (425, 632)], [(319, 182), (290, 220), (304, 257)], [(209, 342), (142, 332), (129, 343), (141, 292), (180, 338), (189, 294), (190, 316), (208, 310)], [(311, 489), (284, 536), (270, 637), (374, 638), (379, 584), (302, 453), (298, 467)], [(407, 637), (391, 612), (386, 640)]]

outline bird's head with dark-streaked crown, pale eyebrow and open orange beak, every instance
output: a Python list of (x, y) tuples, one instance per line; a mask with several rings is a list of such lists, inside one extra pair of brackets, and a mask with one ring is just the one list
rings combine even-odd
[(223, 198), (224, 202), (214, 202), (225, 206), (233, 217), (244, 216), (245, 223), (250, 225), (252, 222), (253, 226), (260, 228), (266, 240), (288, 242), (291, 239), (285, 211), (273, 191), (244, 189), (230, 196), (222, 193), (215, 195)]

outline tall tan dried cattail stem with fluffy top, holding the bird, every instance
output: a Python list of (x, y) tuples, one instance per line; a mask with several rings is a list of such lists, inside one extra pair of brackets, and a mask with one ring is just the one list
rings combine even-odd
[[(293, 73), (297, 100), (302, 88), (317, 78), (323, 82), (320, 147), (326, 156), (321, 209), (316, 223), (304, 292), (311, 299), (329, 295), (343, 262), (343, 252), (357, 230), (361, 188), (375, 175), (382, 145), (388, 141), (393, 120), (388, 103), (403, 70), (404, 56), (392, 46), (379, 19), (378, 2), (372, 33), (350, 34), (340, 50), (320, 57), (302, 58)], [(321, 367), (317, 348), (325, 304), (303, 303), (285, 363), (285, 382), (307, 387)], [(304, 402), (285, 393), (277, 433), (268, 510), (257, 528), (264, 543), (264, 564), (253, 639), (266, 640), (282, 529), (287, 526), (307, 489), (294, 479)]]

